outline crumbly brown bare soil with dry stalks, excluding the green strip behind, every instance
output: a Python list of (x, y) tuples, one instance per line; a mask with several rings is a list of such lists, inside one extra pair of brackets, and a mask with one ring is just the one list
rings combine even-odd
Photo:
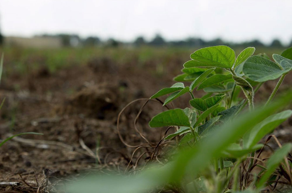
[[(155, 61), (142, 67), (135, 66), (135, 62), (118, 65), (110, 58), (93, 58), (86, 65), (74, 65), (53, 74), (44, 67), (3, 79), (0, 100), (6, 97), (6, 101), (1, 110), (0, 138), (20, 132), (44, 135), (19, 136), (1, 147), (0, 182), (19, 184), (0, 185), (0, 192), (37, 192), (38, 187), (39, 192), (45, 192), (50, 183), (70, 174), (100, 167), (126, 167), (135, 148), (126, 147), (118, 136), (118, 113), (130, 101), (149, 98), (172, 85), (182, 64), (173, 57), (164, 73), (156, 74)], [(290, 82), (289, 75), (281, 90), (288, 89)], [(266, 100), (276, 83), (265, 83), (256, 103)], [(198, 92), (197, 97), (202, 94)], [(185, 101), (174, 101), (173, 105), (187, 106), (188, 100)], [(145, 143), (133, 128), (143, 102), (134, 103), (121, 116), (121, 136), (130, 145)], [(157, 143), (164, 130), (150, 129), (147, 122), (164, 109), (159, 103), (149, 102), (138, 120), (140, 131), (150, 142)], [(277, 130), (281, 141), (291, 141), (291, 125), (290, 118)], [(94, 158), (92, 152), (95, 154), (96, 149), (98, 157)], [(140, 155), (137, 153), (134, 161)], [(148, 159), (147, 155), (143, 159)]]

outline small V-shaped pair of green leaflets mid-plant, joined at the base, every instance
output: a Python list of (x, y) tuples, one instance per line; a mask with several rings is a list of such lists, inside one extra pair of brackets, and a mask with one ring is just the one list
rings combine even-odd
[(214, 106), (215, 104), (219, 103), (226, 94), (221, 93), (214, 95), (212, 97), (208, 97), (207, 99), (200, 99), (200, 98), (195, 98), (190, 100), (190, 105), (198, 110), (205, 111), (208, 108)]

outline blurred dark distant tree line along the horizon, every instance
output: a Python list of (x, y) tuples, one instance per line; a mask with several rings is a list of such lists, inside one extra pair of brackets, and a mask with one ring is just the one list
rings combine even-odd
[[(143, 36), (139, 36), (133, 42), (122, 42), (114, 38), (109, 38), (106, 41), (102, 41), (97, 36), (89, 36), (87, 38), (81, 38), (77, 34), (54, 34), (54, 35), (43, 34), (40, 36), (41, 37), (58, 37), (61, 39), (62, 46), (64, 47), (74, 47), (74, 46), (94, 47), (94, 46), (100, 46), (100, 45), (106, 45), (110, 47), (117, 47), (119, 45), (134, 45), (134, 46), (150, 45), (150, 46), (178, 46), (178, 47), (207, 47), (207, 46), (214, 46), (214, 45), (228, 45), (231, 47), (238, 47), (238, 46), (241, 46), (241, 47), (268, 46), (268, 47), (274, 47), (274, 48), (284, 47), (284, 45), (281, 43), (279, 39), (274, 39), (272, 43), (270, 43), (269, 45), (265, 45), (259, 40), (246, 41), (243, 43), (233, 43), (233, 42), (223, 41), (220, 38), (207, 41), (202, 38), (190, 37), (184, 40), (166, 41), (160, 34), (156, 34), (156, 36), (150, 41), (145, 40)], [(3, 37), (0, 34), (0, 43), (2, 42), (3, 42)], [(289, 44), (289, 47), (291, 46), (292, 46), (292, 41)]]

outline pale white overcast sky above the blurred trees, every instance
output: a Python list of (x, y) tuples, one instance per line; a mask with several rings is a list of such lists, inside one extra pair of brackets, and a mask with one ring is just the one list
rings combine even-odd
[(76, 33), (131, 41), (137, 36), (264, 43), (292, 39), (292, 0), (0, 0), (4, 35)]

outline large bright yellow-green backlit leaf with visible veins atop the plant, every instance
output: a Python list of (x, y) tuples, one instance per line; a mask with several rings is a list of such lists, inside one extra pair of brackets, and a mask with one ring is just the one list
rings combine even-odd
[(191, 58), (193, 60), (184, 64), (185, 68), (208, 66), (230, 69), (235, 61), (235, 52), (225, 45), (218, 45), (201, 48), (192, 53)]

